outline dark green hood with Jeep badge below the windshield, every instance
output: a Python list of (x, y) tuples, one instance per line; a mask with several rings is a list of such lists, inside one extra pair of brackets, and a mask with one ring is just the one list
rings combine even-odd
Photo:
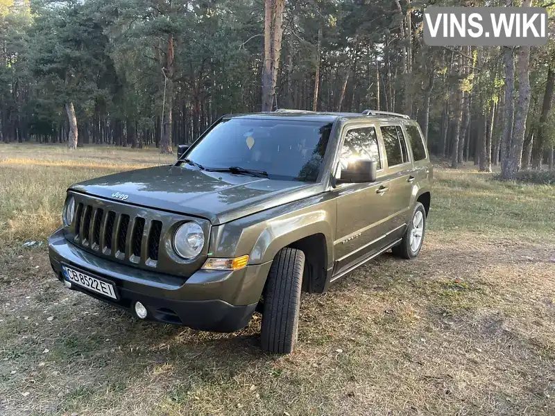
[(192, 166), (157, 166), (116, 173), (73, 185), (92, 196), (208, 218), (227, 223), (307, 198), (323, 191), (322, 184), (268, 180), (227, 172), (199, 171)]

